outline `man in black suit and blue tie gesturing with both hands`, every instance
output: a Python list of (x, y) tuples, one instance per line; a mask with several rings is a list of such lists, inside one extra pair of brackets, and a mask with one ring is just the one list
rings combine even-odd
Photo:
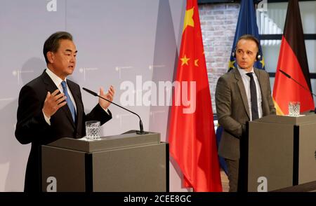
[[(85, 121), (106, 123), (112, 118), (110, 103), (99, 99), (89, 114), (84, 114), (80, 87), (67, 79), (76, 66), (77, 49), (72, 35), (56, 32), (44, 43), (48, 69), (20, 90), (15, 137), (21, 144), (32, 143), (25, 174), (25, 191), (41, 191), (41, 145), (62, 137), (79, 139), (86, 135)], [(112, 101), (114, 88), (100, 96)]]

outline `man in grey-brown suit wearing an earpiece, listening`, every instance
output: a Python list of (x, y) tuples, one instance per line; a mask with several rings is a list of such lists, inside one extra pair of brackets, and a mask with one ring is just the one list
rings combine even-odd
[(239, 176), (239, 139), (244, 138), (246, 121), (275, 114), (269, 74), (254, 68), (259, 41), (244, 35), (237, 41), (235, 58), (238, 68), (223, 74), (216, 85), (218, 123), (223, 127), (218, 153), (228, 166), (230, 191), (237, 191)]

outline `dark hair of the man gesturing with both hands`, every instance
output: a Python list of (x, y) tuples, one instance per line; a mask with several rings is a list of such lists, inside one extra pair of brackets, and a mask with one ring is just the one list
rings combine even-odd
[(51, 36), (46, 39), (44, 43), (44, 48), (43, 48), (43, 54), (45, 57), (46, 64), (49, 63), (48, 58), (47, 58), (47, 53), (48, 52), (57, 52), (59, 48), (59, 41), (60, 39), (67, 39), (72, 41), (72, 34), (68, 32), (55, 32), (54, 34), (51, 34)]

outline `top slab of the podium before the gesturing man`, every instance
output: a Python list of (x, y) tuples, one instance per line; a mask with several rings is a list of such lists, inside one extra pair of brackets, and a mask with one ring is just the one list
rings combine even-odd
[(74, 139), (64, 137), (48, 144), (62, 149), (72, 149), (75, 151), (94, 152), (118, 149), (129, 146), (141, 146), (147, 144), (159, 144), (160, 133), (148, 132), (145, 135), (137, 135), (136, 131), (131, 130), (121, 135), (101, 137), (100, 140), (87, 141), (86, 139)]

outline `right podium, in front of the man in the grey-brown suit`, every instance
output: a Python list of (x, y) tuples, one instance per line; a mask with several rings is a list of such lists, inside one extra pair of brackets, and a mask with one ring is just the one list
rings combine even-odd
[(316, 115), (265, 116), (241, 140), (242, 186), (268, 191), (316, 180)]

